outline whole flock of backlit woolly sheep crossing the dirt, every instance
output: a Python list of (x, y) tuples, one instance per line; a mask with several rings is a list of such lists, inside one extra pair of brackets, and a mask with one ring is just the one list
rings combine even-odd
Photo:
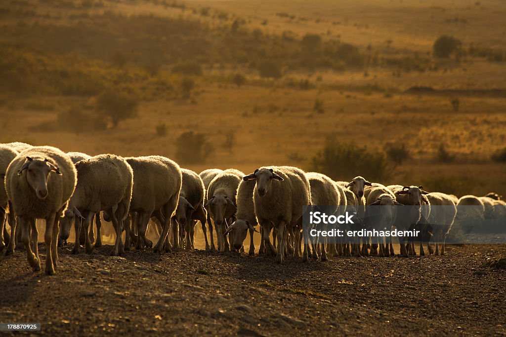
[[(390, 227), (399, 230), (416, 223), (432, 224), (436, 255), (445, 252), (445, 238), (454, 222), (456, 206), (482, 207), (483, 216), (487, 216), (486, 205), (506, 209), (496, 194), (458, 199), (439, 192), (429, 193), (421, 186), (371, 183), (361, 176), (350, 182), (333, 181), (324, 174), (290, 166), (261, 167), (247, 175), (235, 169), (208, 169), (197, 174), (161, 156), (91, 157), (20, 142), (0, 145), (0, 173), (5, 176), (2, 179), (5, 186), (0, 186), (0, 250), (7, 245), (6, 254), (12, 254), (16, 246), (24, 247), (32, 269), (40, 270), (35, 220), (45, 219), (47, 274), (55, 272), (57, 246), (66, 244), (72, 224), (75, 230), (72, 253), (77, 254), (81, 244), (86, 253), (91, 253), (93, 241), (95, 247), (101, 246), (100, 212), (115, 229), (111, 255), (121, 255), (132, 246), (152, 247), (159, 253), (194, 249), (194, 227), (200, 221), (205, 249), (243, 251), (249, 233), (249, 255), (255, 254), (253, 235), (260, 224), (259, 253), (275, 256), (282, 263), (286, 256), (302, 256), (307, 261), (309, 257), (326, 260), (328, 256), (394, 255), (391, 240), (303, 244), (305, 205), (335, 205), (336, 210), (352, 212), (366, 205), (412, 205), (409, 214), (400, 215), (401, 208), (390, 207), (385, 208), (388, 211), (382, 216)], [(154, 246), (146, 237), (150, 220), (159, 233)], [(428, 243), (427, 246), (432, 254), (433, 248)], [(414, 243), (400, 242), (400, 253), (416, 255)], [(423, 244), (419, 253), (425, 254)]]

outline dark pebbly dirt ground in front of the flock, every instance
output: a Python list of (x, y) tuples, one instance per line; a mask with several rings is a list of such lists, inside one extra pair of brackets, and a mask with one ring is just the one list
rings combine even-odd
[(283, 265), (202, 250), (70, 249), (54, 276), (32, 273), (23, 251), (0, 257), (0, 322), (41, 322), (45, 335), (506, 334), (506, 271), (490, 266), (505, 245)]

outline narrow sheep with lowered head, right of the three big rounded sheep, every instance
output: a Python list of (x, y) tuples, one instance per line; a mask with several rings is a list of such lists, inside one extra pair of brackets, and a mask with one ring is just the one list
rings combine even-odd
[(200, 176), (192, 170), (181, 169), (183, 181), (179, 194), (178, 208), (175, 218), (185, 229), (185, 248), (195, 249), (193, 244), (195, 220), (200, 221), (205, 239), (205, 249), (209, 249), (207, 241), (206, 212), (203, 208), (204, 183)]

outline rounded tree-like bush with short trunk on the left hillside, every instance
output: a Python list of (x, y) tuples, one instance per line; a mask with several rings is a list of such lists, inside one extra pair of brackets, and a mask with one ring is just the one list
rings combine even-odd
[(113, 127), (124, 119), (135, 117), (138, 105), (137, 98), (112, 89), (105, 90), (97, 98), (97, 110), (111, 119)]

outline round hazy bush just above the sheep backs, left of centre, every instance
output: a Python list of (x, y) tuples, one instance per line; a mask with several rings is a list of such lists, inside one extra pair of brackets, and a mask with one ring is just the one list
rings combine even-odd
[(183, 132), (175, 142), (176, 160), (182, 164), (201, 164), (213, 152), (205, 134), (193, 131)]

